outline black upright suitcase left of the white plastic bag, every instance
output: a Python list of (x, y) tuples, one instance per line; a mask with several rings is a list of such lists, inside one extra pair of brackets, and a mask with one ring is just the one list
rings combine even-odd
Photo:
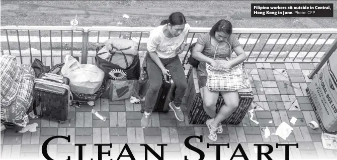
[(41, 73), (34, 80), (34, 114), (65, 121), (71, 103), (69, 79), (51, 73)]

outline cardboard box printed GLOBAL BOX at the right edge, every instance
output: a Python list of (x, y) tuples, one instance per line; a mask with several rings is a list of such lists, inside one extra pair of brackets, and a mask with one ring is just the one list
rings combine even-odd
[[(324, 132), (337, 133), (337, 53), (334, 52), (326, 66), (306, 89), (317, 120)], [(331, 63), (330, 63), (331, 62)]]

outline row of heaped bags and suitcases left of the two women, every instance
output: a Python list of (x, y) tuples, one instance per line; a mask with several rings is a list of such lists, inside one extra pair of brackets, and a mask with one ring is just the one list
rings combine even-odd
[(27, 126), (28, 114), (63, 122), (69, 107), (100, 97), (116, 101), (140, 98), (138, 44), (111, 38), (97, 47), (96, 65), (80, 64), (66, 55), (64, 63), (51, 68), (35, 59), (32, 66), (19, 65), (16, 57), (2, 55), (1, 120), (3, 124)]

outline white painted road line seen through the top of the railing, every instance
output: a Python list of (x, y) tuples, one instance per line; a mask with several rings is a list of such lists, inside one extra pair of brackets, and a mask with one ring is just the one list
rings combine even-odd
[[(104, 43), (104, 41), (108, 40), (109, 37), (100, 37), (99, 39), (99, 43)], [(112, 37), (111, 37), (112, 38)], [(118, 37), (114, 37), (114, 38), (118, 38)], [(18, 42), (18, 37), (17, 36), (8, 36), (8, 39), (10, 42)], [(28, 36), (20, 36), (19, 37), (20, 39), (20, 42), (28, 42)], [(73, 42), (74, 43), (78, 43), (78, 42), (82, 42), (82, 37), (73, 37)], [(139, 37), (132, 37), (131, 38), (133, 41), (135, 42), (139, 42)], [(191, 42), (192, 38), (188, 38), (187, 42)], [(261, 40), (261, 39), (260, 39)], [(260, 43), (261, 41), (258, 41), (258, 43)], [(264, 39), (266, 40), (266, 39)], [(297, 39), (289, 39), (288, 42), (287, 42), (287, 45), (293, 45), (295, 44)], [(298, 42), (296, 44), (298, 45), (303, 45), (305, 43), (307, 39), (306, 38), (301, 38), (298, 40)], [(314, 44), (314, 42), (316, 41), (317, 39), (315, 38), (310, 38), (308, 40), (308, 42), (306, 44)], [(323, 39), (323, 38), (320, 38), (317, 42), (316, 42), (316, 45), (322, 45), (324, 42), (325, 42), (326, 39)], [(39, 40), (39, 37), (38, 36), (31, 36), (30, 37), (30, 41), (31, 43), (34, 43), (34, 42), (40, 42)], [(54, 42), (54, 43), (60, 43), (61, 42), (61, 37), (52, 37), (51, 38), (51, 41)], [(246, 38), (240, 38), (239, 39), (239, 42), (240, 44), (245, 44), (247, 41)], [(250, 38), (247, 42), (248, 45), (252, 45), (252, 44), (255, 44), (257, 41), (257, 39), (255, 38)], [(277, 39), (269, 39), (267, 44), (275, 44), (277, 41)], [(287, 41), (287, 39), (279, 39), (277, 44), (285, 44), (285, 42)], [(328, 39), (326, 41), (325, 44), (327, 45), (330, 45), (332, 44), (334, 41), (334, 39)], [(1, 36), (1, 42), (7, 42), (7, 38), (6, 36)], [(50, 37), (41, 37), (41, 42), (50, 42)], [(71, 37), (62, 37), (62, 42), (63, 43), (71, 43)], [(89, 37), (89, 42), (91, 43), (97, 43), (97, 37)], [(141, 42), (140, 43), (148, 43), (150, 42), (150, 39), (149, 38), (141, 38)], [(192, 43), (195, 43), (197, 42), (197, 38), (194, 38)], [(265, 41), (261, 42), (261, 43), (265, 43)]]

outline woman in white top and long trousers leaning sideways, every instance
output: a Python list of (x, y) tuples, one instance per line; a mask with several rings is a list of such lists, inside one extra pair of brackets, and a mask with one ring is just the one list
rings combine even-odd
[(167, 24), (156, 27), (150, 32), (150, 42), (147, 43), (148, 52), (146, 54), (146, 68), (150, 85), (146, 92), (145, 111), (140, 122), (143, 128), (147, 128), (149, 125), (149, 115), (157, 100), (162, 76), (170, 76), (177, 86), (175, 98), (169, 106), (175, 112), (176, 118), (184, 121), (180, 105), (185, 95), (187, 82), (178, 55), (184, 51), (187, 45), (189, 30), (190, 25), (186, 23), (185, 16), (176, 12), (168, 17)]

